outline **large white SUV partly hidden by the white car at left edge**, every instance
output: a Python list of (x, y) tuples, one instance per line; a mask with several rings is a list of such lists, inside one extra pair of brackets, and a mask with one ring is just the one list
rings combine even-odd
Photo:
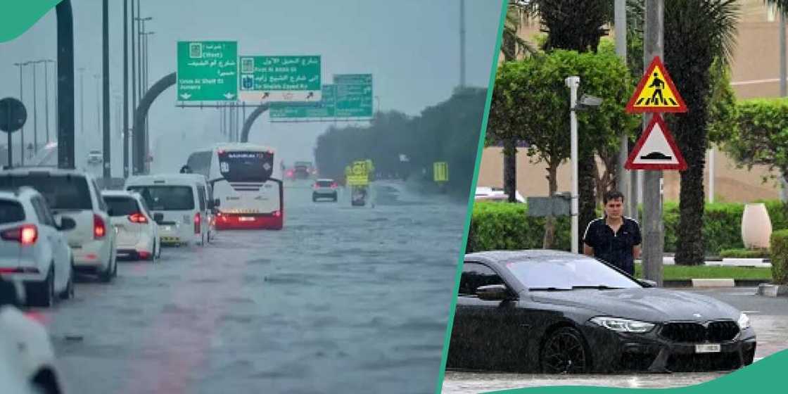
[(0, 188), (30, 186), (39, 191), (57, 218), (65, 214), (76, 221), (65, 232), (74, 258), (74, 269), (95, 273), (103, 282), (117, 276), (115, 232), (95, 178), (76, 169), (20, 167), (0, 172)]

